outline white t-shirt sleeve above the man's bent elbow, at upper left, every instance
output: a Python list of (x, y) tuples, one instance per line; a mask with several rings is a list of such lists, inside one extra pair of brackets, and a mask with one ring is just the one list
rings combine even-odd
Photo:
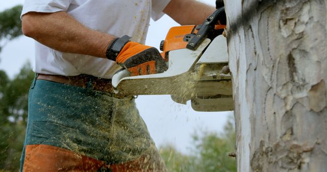
[(67, 11), (72, 0), (25, 0), (21, 15), (28, 12), (54, 13)]

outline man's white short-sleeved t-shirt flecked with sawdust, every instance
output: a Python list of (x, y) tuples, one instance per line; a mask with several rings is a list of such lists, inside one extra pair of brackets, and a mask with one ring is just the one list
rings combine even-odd
[[(144, 43), (150, 17), (159, 19), (170, 0), (25, 0), (21, 15), (28, 12), (66, 11), (92, 30), (116, 37), (128, 35)], [(64, 53), (35, 42), (34, 72), (76, 76), (89, 74), (111, 78), (120, 69), (115, 62), (95, 56)]]

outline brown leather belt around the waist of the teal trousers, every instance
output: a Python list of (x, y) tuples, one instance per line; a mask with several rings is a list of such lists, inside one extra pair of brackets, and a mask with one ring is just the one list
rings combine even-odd
[(78, 76), (46, 75), (38, 74), (36, 79), (54, 81), (82, 88), (113, 93), (111, 79), (99, 78), (91, 75), (81, 74)]

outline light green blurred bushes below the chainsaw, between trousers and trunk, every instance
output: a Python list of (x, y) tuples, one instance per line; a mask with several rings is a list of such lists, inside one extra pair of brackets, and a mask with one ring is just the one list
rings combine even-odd
[(234, 128), (230, 117), (221, 134), (194, 134), (191, 155), (182, 155), (170, 145), (162, 147), (160, 154), (169, 171), (236, 171), (235, 158), (228, 156), (235, 150)]

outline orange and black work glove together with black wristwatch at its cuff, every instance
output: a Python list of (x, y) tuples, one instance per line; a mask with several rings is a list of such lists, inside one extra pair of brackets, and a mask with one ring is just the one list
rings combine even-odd
[(159, 51), (150, 46), (129, 41), (123, 36), (114, 40), (107, 50), (107, 58), (127, 69), (131, 76), (162, 73), (167, 70)]

